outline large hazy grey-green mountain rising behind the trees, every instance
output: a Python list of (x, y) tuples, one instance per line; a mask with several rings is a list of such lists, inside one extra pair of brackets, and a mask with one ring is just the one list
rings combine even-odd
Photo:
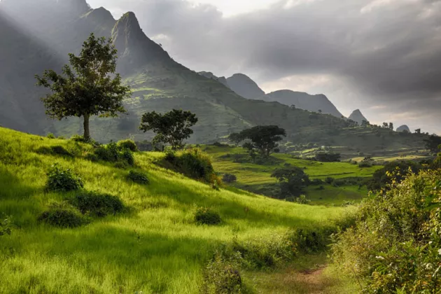
[[(92, 118), (91, 135), (97, 141), (151, 139), (151, 132), (139, 131), (144, 113), (185, 109), (199, 118), (190, 143), (213, 143), (231, 132), (255, 125), (279, 125), (286, 130), (287, 141), (294, 144), (344, 146), (339, 142), (344, 139), (351, 149), (365, 152), (389, 144), (387, 140), (372, 140), (365, 150), (367, 145), (359, 138), (367, 130), (349, 130), (350, 124), (340, 118), (332, 104), (314, 106), (318, 102), (330, 104), (324, 95), (292, 91), (265, 95), (244, 75), (225, 79), (188, 69), (144, 34), (134, 13), (114, 20), (108, 10), (92, 9), (84, 0), (2, 0), (0, 32), (0, 124), (4, 127), (35, 134), (52, 132), (64, 137), (81, 132), (80, 118), (57, 121), (45, 117), (39, 98), (46, 92), (35, 86), (34, 75), (45, 69), (60, 71), (68, 61), (67, 53), (80, 52), (83, 41), (93, 32), (113, 40), (118, 48), (118, 71), (124, 83), (132, 88), (132, 97), (124, 102), (128, 116)], [(241, 97), (232, 88), (254, 99)], [(302, 104), (304, 101), (314, 107)], [(297, 109), (291, 109), (291, 104), (296, 104)], [(311, 113), (300, 107), (311, 111), (321, 109), (337, 117)], [(395, 143), (393, 148), (419, 148), (416, 141)]]

